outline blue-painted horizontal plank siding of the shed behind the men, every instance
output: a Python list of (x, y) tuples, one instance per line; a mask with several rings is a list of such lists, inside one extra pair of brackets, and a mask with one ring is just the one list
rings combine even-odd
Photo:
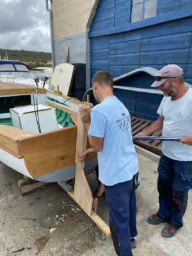
[[(170, 13), (172, 17), (174, 16), (172, 12), (187, 7), (192, 7), (191, 0), (158, 0), (157, 16), (162, 17)], [(168, 63), (175, 63), (184, 69), (185, 81), (192, 83), (192, 17), (106, 35), (106, 29), (115, 26), (121, 28), (129, 24), (130, 20), (131, 1), (116, 0), (116, 3), (113, 0), (100, 1), (90, 29), (91, 33), (100, 31), (101, 35), (90, 38), (91, 79), (99, 70), (109, 71), (115, 78), (136, 68), (153, 67), (160, 70)], [(149, 88), (153, 81), (152, 76), (141, 72), (116, 84)], [(132, 116), (148, 120), (157, 119), (156, 111), (162, 95), (116, 89), (114, 92), (124, 102)]]

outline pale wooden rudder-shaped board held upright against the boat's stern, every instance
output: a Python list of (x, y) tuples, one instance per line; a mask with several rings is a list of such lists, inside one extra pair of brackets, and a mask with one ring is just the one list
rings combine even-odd
[(90, 186), (84, 175), (84, 163), (80, 163), (77, 157), (77, 152), (82, 153), (86, 149), (87, 131), (81, 121), (81, 116), (78, 111), (77, 122), (77, 141), (76, 141), (76, 179), (74, 187), (74, 197), (81, 208), (90, 216), (92, 214), (93, 196)]

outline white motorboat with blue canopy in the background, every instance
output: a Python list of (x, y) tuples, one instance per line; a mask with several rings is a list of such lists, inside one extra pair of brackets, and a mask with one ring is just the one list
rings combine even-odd
[[(47, 75), (45, 75), (47, 77)], [(19, 61), (0, 60), (0, 81), (9, 83), (34, 84), (40, 87), (48, 88), (50, 77), (41, 79), (35, 77), (29, 72), (26, 65)]]

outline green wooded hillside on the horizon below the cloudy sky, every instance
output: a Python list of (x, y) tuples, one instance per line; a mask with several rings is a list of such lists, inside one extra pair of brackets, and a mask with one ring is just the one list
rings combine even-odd
[[(44, 62), (47, 63), (47, 61), (52, 59), (51, 52), (32, 52), (32, 51), (24, 51), (24, 50), (6, 50), (8, 54), (9, 60), (22, 60), (26, 62)], [(0, 49), (0, 55), (1, 59), (6, 56), (5, 49)], [(36, 66), (36, 67), (42, 67), (42, 66)], [(52, 67), (52, 65), (51, 65)]]

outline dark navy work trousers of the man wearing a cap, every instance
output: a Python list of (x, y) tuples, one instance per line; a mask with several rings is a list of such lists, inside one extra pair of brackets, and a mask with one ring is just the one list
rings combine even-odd
[(177, 161), (163, 154), (159, 160), (158, 214), (170, 225), (179, 229), (188, 204), (188, 191), (192, 188), (192, 161)]

